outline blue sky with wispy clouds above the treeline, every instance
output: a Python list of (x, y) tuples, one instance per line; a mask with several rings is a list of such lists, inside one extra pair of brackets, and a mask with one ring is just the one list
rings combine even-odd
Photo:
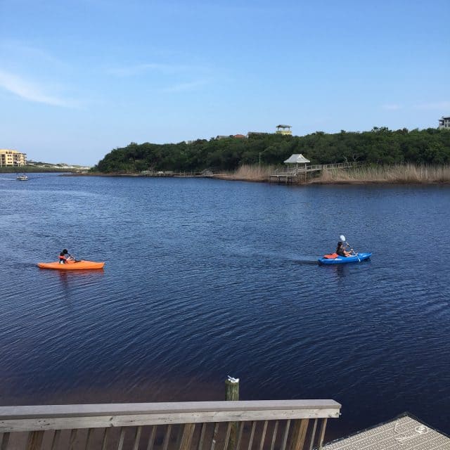
[(450, 1), (0, 0), (0, 148), (437, 127)]

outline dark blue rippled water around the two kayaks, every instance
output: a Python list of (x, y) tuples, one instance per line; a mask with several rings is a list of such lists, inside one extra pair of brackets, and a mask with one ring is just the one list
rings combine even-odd
[[(0, 403), (330, 398), (450, 432), (450, 187), (0, 175)], [(319, 266), (338, 236), (368, 262)], [(68, 248), (104, 271), (38, 269)]]

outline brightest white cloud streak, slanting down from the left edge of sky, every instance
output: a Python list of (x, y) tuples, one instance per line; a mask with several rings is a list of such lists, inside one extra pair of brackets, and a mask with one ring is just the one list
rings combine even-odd
[(48, 95), (37, 84), (29, 82), (18, 75), (5, 72), (4, 70), (0, 70), (0, 88), (28, 101), (46, 103), (47, 105), (53, 106), (64, 106), (66, 108), (75, 106), (75, 102)]

